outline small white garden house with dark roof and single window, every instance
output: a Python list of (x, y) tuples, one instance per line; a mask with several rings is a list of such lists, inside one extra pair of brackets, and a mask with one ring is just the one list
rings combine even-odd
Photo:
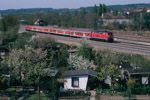
[(97, 79), (97, 72), (93, 70), (70, 70), (64, 72), (64, 90), (89, 90), (98, 82), (90, 81)]

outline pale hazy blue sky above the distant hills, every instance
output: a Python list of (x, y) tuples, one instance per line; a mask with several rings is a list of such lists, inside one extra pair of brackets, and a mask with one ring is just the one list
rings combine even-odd
[(0, 10), (20, 8), (80, 8), (104, 3), (133, 4), (150, 3), (150, 0), (0, 0)]

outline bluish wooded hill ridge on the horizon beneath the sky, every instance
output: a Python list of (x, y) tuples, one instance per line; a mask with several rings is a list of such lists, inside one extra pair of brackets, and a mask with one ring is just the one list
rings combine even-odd
[[(98, 5), (97, 5), (98, 6)], [(93, 7), (84, 7), (86, 12), (91, 12)], [(110, 5), (107, 6), (110, 10), (127, 10), (127, 9), (145, 9), (150, 8), (149, 4), (127, 4), (127, 5)], [(75, 10), (82, 10), (83, 8), (78, 9), (53, 9), (53, 8), (29, 8), (29, 9), (8, 9), (8, 10), (0, 10), (0, 14), (31, 14), (36, 12), (43, 12), (43, 13), (64, 13), (64, 12), (71, 12), (74, 13)]]

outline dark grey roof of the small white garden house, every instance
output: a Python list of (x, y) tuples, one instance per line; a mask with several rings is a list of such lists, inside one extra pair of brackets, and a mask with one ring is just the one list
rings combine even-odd
[(69, 70), (64, 72), (64, 77), (77, 76), (77, 75), (90, 75), (90, 76), (97, 77), (97, 72), (93, 70)]

